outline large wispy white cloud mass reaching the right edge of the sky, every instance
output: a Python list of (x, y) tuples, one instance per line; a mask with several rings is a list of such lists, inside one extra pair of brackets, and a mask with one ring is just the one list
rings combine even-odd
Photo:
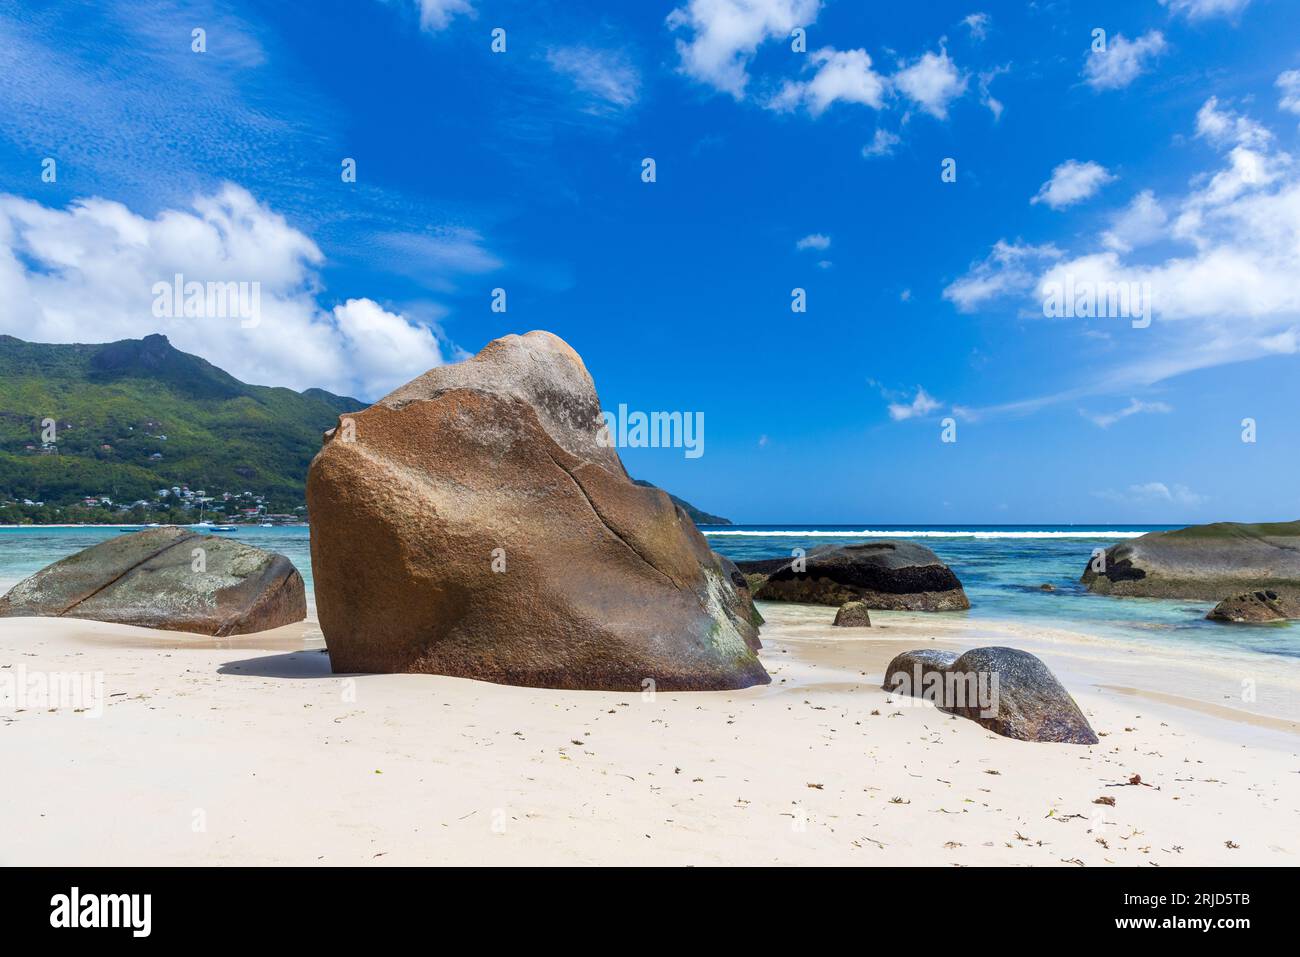
[[(1030, 264), (1041, 274), (1028, 289), (1028, 265), (1014, 257), (1002, 263), (1006, 256), (1000, 257), (998, 250), (1005, 243), (998, 243), (945, 291), (959, 308), (971, 308), (998, 295), (1028, 299), (1030, 290), (1040, 304), (1050, 283), (1149, 289), (1150, 329), (1130, 329), (1127, 320), (1097, 320), (1115, 321), (1110, 328), (1124, 337), (1124, 348), (1108, 354), (1118, 356), (1119, 364), (1080, 369), (1084, 378), (1076, 387), (992, 411), (1032, 411), (1145, 387), (1195, 369), (1300, 352), (1297, 165), (1277, 148), (1268, 130), (1214, 100), (1201, 108), (1196, 125), (1223, 152), (1219, 168), (1192, 177), (1186, 194), (1165, 199), (1160, 213), (1139, 208), (1140, 229), (1113, 229), (1100, 237), (1098, 247), (1058, 256), (1045, 268)], [(1132, 212), (1130, 205), (1117, 222)], [(1162, 228), (1160, 216), (1166, 217)], [(1154, 259), (1149, 254), (1126, 259), (1128, 247), (1156, 243), (1170, 251)]]

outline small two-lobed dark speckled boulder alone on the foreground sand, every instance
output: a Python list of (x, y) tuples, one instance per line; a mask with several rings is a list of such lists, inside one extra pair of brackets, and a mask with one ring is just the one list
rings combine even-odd
[(959, 657), (904, 651), (889, 662), (881, 687), (932, 701), (1005, 737), (1097, 744), (1088, 719), (1048, 666), (1014, 648), (975, 648)]

